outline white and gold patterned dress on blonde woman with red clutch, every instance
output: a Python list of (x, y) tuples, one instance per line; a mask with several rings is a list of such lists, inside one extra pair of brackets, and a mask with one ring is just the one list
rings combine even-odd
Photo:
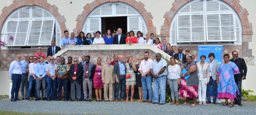
[[(134, 67), (135, 66), (135, 64), (134, 63), (132, 63), (132, 66)], [(129, 66), (129, 63), (125, 63), (125, 67), (126, 67), (126, 75), (131, 75), (131, 77), (130, 78), (128, 78), (128, 79), (126, 79), (126, 85), (127, 86), (129, 86), (129, 85), (135, 85), (136, 84), (136, 76), (135, 76), (135, 73), (134, 73), (134, 70), (133, 70), (133, 67), (132, 68), (130, 68), (130, 66)], [(130, 72), (130, 71), (132, 71), (132, 72)]]

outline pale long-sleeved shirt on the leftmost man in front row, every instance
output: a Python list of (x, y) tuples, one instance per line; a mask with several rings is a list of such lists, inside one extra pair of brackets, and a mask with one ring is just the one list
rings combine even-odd
[(22, 74), (21, 62), (15, 60), (11, 63), (9, 68), (9, 75), (12, 77), (12, 74)]

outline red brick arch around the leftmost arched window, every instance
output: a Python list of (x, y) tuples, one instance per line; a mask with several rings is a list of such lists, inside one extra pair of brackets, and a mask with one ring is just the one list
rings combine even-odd
[(55, 5), (50, 5), (47, 3), (47, 0), (14, 0), (12, 1), (13, 3), (10, 6), (5, 6), (2, 9), (2, 14), (0, 15), (0, 25), (1, 25), (1, 30), (3, 28), (3, 24), (5, 20), (8, 18), (8, 16), (15, 11), (16, 9), (23, 7), (23, 6), (40, 6), (42, 8), (47, 9), (49, 12), (55, 16), (57, 21), (59, 22), (60, 29), (62, 32), (62, 36), (64, 36), (64, 31), (66, 30), (66, 19), (64, 16), (60, 15), (58, 12), (58, 8)]

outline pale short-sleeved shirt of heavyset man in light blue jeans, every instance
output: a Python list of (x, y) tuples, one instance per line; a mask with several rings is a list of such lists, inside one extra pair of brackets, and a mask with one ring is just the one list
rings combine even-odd
[[(161, 58), (159, 60), (159, 62), (157, 62), (156, 60), (154, 60), (151, 65), (150, 65), (150, 69), (153, 69), (153, 73), (154, 74), (157, 74), (158, 72), (160, 72), (160, 70), (163, 68), (163, 67), (166, 67), (167, 68), (167, 62)], [(165, 68), (165, 71), (163, 73), (161, 73), (160, 75), (158, 75), (158, 77), (161, 77), (161, 76), (165, 76), (167, 75), (167, 69)]]

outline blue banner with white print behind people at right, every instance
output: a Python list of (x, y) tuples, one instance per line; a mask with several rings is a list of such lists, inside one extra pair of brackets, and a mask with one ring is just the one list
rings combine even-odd
[(223, 54), (222, 54), (223, 46), (198, 46), (198, 62), (201, 61), (201, 59), (200, 59), (201, 55), (205, 55), (206, 56), (205, 62), (209, 62), (210, 60), (209, 60), (208, 55), (211, 52), (215, 54), (214, 61), (221, 64), (222, 56), (223, 56)]

